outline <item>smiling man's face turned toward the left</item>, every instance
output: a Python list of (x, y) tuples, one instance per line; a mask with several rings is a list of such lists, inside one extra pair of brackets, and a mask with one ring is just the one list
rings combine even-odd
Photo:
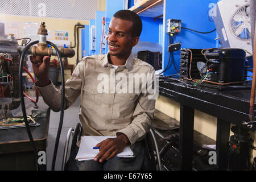
[(106, 40), (112, 56), (129, 56), (139, 38), (133, 38), (133, 22), (113, 17), (109, 24)]

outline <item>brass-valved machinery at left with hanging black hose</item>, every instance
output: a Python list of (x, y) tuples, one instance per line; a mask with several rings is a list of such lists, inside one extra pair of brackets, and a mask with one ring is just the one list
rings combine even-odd
[[(25, 71), (27, 75), (30, 76), (31, 80), (35, 83), (34, 78), (31, 76), (30, 72), (27, 70), (27, 55), (34, 56), (57, 56), (60, 61), (60, 71), (61, 71), (61, 87), (65, 89), (64, 85), (64, 68), (63, 61), (61, 57), (73, 57), (75, 56), (75, 51), (71, 48), (61, 47), (60, 50), (57, 46), (46, 40), (48, 35), (46, 25), (44, 22), (40, 24), (38, 29), (39, 40), (26, 43), (22, 42), (22, 45), (19, 46), (17, 40), (14, 38), (14, 35), (9, 35), (5, 37), (4, 24), (0, 23), (0, 89), (1, 89), (1, 98), (0, 98), (0, 125), (4, 129), (10, 129), (11, 127), (24, 127), (26, 126), (27, 134), (32, 144), (32, 148), (35, 156), (36, 168), (40, 169), (38, 165), (38, 152), (36, 150), (34, 140), (31, 135), (30, 126), (35, 125), (35, 117), (40, 115), (40, 110), (37, 109), (37, 102), (39, 97), (39, 92), (35, 88), (36, 99), (29, 97), (26, 94), (26, 86), (24, 86), (24, 77), (23, 72)], [(24, 38), (28, 39), (28, 38)], [(37, 46), (34, 46), (37, 44)], [(32, 87), (33, 85), (29, 86)], [(24, 97), (27, 97), (29, 100), (34, 103), (32, 109), (32, 115), (27, 114), (26, 105), (30, 102), (24, 101)], [(57, 132), (55, 151), (53, 154), (52, 169), (55, 166), (55, 159), (57, 153), (57, 147), (59, 144), (60, 132), (63, 123), (63, 114), (64, 114), (64, 98), (65, 93), (62, 92), (61, 95), (61, 114), (60, 114), (60, 124), (59, 130)], [(14, 110), (19, 110), (22, 115), (14, 117)], [(1, 129), (1, 128), (0, 128)]]

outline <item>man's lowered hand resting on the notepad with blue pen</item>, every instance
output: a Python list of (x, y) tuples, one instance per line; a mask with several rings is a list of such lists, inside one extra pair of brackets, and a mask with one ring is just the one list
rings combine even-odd
[(116, 138), (103, 140), (95, 146), (100, 147), (100, 153), (95, 156), (94, 161), (102, 163), (104, 160), (113, 158), (113, 156), (122, 152), (127, 144), (129, 144), (129, 139), (122, 133), (117, 134)]

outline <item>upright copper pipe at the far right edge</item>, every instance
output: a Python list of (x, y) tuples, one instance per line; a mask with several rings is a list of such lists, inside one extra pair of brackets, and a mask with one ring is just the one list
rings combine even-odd
[[(256, 25), (256, 23), (255, 23)], [(256, 27), (256, 26), (255, 26)], [(256, 30), (256, 28), (255, 28)], [(254, 121), (254, 101), (255, 101), (255, 86), (256, 86), (256, 31), (254, 33), (254, 51), (253, 51), (253, 82), (251, 84), (251, 100), (250, 100), (250, 111), (249, 119)]]

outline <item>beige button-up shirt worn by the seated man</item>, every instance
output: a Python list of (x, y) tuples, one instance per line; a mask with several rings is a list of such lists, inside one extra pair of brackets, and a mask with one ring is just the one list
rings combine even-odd
[[(132, 55), (116, 69), (108, 55), (84, 57), (65, 82), (65, 109), (81, 97), (79, 118), (84, 135), (125, 134), (131, 145), (144, 138), (150, 129), (155, 100), (143, 92), (143, 75), (154, 68)], [(142, 76), (138, 82), (138, 77)], [(136, 81), (137, 79), (137, 81)], [(38, 87), (53, 111), (60, 111), (61, 90), (53, 84)]]

